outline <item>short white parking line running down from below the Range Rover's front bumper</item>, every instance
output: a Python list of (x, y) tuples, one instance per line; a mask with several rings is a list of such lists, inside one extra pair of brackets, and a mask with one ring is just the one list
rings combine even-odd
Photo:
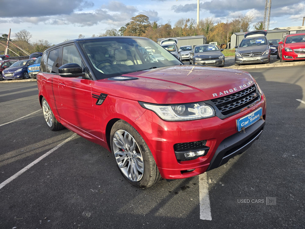
[(200, 219), (212, 220), (206, 173), (199, 175)]

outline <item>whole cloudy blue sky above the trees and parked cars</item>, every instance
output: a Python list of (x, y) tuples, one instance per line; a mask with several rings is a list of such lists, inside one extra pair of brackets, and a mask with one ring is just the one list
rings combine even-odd
[[(138, 14), (151, 22), (170, 22), (181, 18), (197, 20), (197, 0), (0, 0), (0, 35), (26, 30), (30, 42), (47, 40), (58, 44), (67, 39), (100, 35), (118, 30)], [(230, 22), (242, 14), (252, 14), (254, 22), (264, 17), (265, 0), (200, 0), (200, 19), (212, 17), (217, 22)], [(300, 26), (305, 16), (305, 0), (273, 0), (270, 26)], [(253, 27), (252, 27), (253, 29)]]

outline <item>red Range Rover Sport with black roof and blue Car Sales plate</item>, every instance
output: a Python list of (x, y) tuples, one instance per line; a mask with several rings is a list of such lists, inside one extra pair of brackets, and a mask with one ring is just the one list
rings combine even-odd
[(219, 167), (265, 125), (265, 96), (249, 73), (183, 65), (146, 38), (52, 46), (37, 82), (48, 127), (108, 149), (139, 188)]

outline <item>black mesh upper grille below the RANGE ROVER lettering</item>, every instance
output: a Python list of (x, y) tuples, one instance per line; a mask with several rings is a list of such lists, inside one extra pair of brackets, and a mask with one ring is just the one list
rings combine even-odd
[(220, 110), (222, 115), (228, 116), (235, 111), (243, 109), (259, 101), (259, 93), (257, 92), (255, 85), (252, 85), (251, 87), (240, 92), (217, 99), (212, 99), (211, 101)]

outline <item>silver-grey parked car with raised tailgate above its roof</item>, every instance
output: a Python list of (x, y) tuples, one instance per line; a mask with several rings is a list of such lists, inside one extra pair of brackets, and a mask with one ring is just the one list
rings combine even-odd
[(252, 31), (244, 35), (239, 46), (235, 46), (235, 65), (270, 62), (270, 45), (266, 31)]

